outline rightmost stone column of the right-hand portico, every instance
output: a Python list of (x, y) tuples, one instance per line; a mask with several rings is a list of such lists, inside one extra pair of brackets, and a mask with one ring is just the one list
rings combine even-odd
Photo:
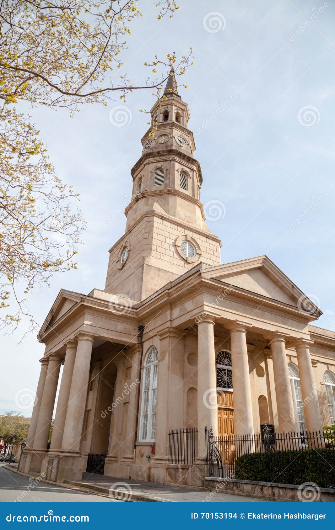
[(314, 380), (313, 367), (310, 354), (310, 340), (299, 339), (296, 345), (298, 358), (300, 385), (303, 396), (304, 413), (307, 431), (321, 431), (322, 421), (317, 399), (316, 384)]

